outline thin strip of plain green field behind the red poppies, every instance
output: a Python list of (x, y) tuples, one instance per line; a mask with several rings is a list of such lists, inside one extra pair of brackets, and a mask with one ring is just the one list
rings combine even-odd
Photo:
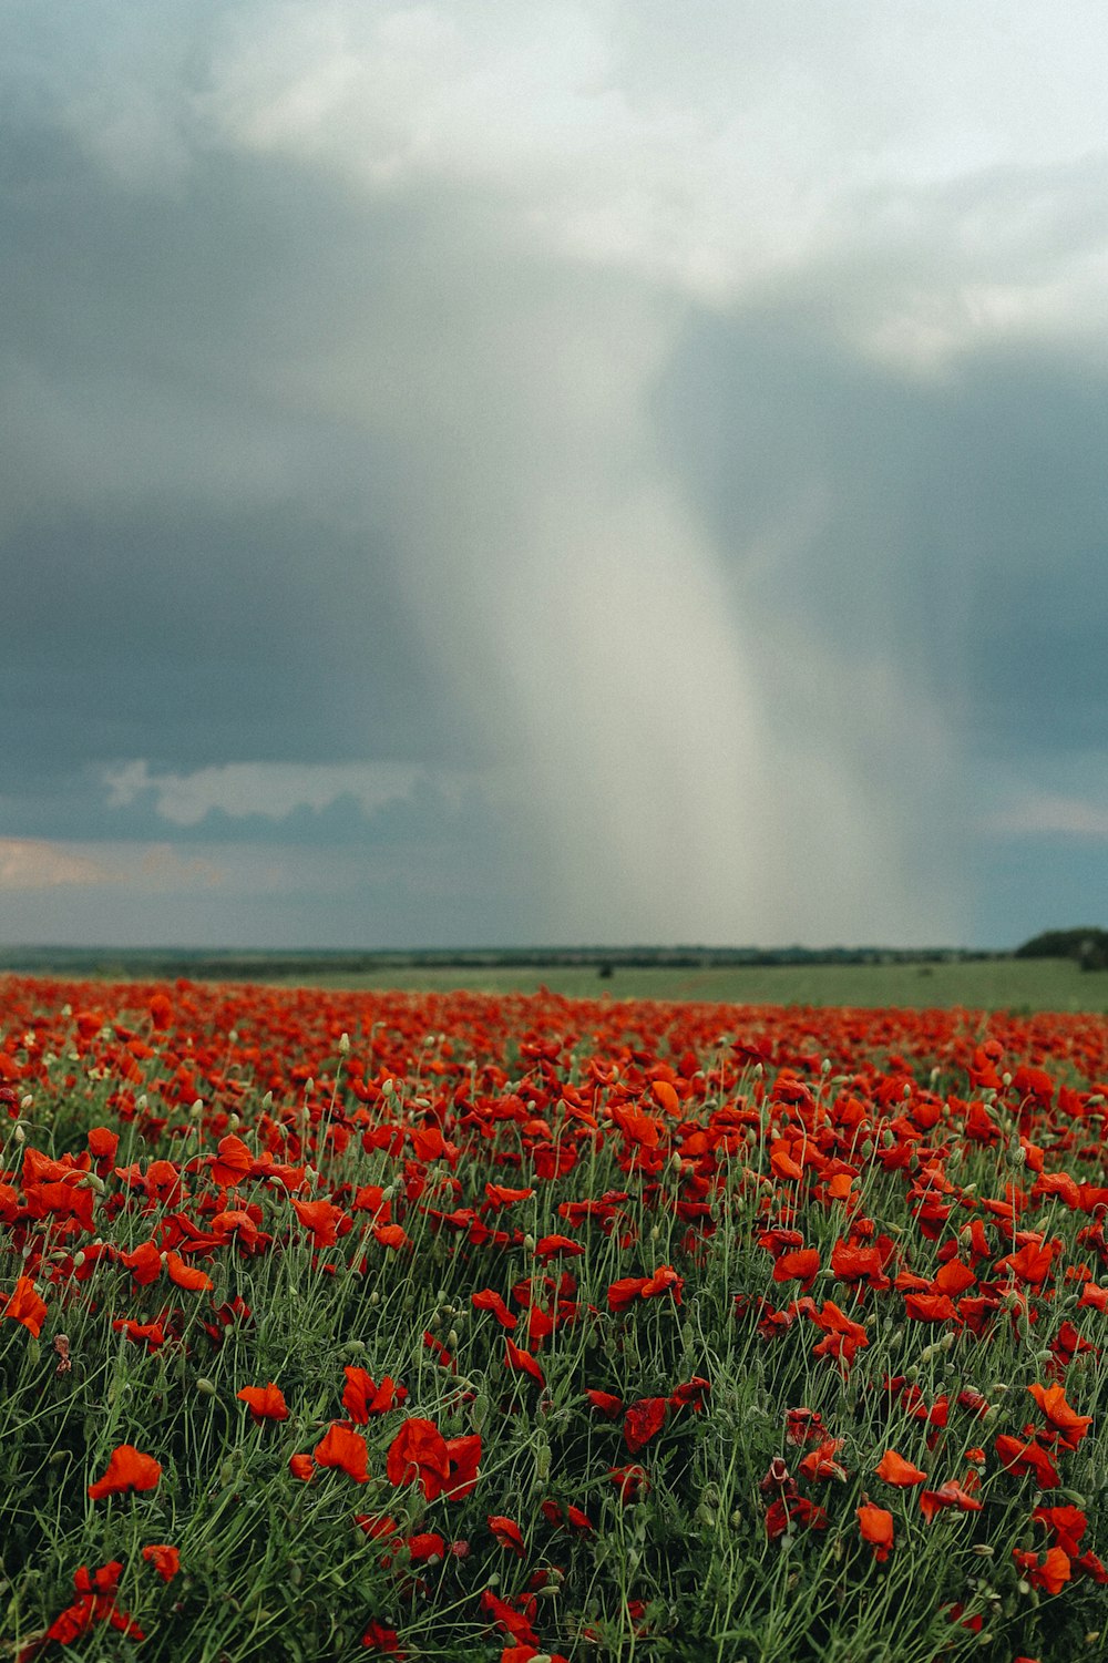
[[(298, 978), (299, 980), (299, 978)], [(309, 986), (399, 988), (424, 993), (534, 993), (567, 998), (697, 999), (719, 1004), (848, 1004), (877, 1009), (1108, 1011), (1108, 971), (1081, 971), (1073, 960), (1012, 958), (960, 965), (767, 965), (707, 970), (616, 970), (601, 978), (586, 966), (384, 970), (361, 976), (311, 976)]]

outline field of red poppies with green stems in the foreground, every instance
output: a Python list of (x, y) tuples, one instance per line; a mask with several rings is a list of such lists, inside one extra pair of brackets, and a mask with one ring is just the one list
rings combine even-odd
[(1108, 1653), (1108, 1021), (0, 980), (0, 1656)]

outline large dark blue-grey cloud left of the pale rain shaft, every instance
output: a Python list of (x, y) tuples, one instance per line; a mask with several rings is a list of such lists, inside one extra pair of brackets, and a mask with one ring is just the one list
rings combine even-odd
[(62, 140), (7, 156), (8, 778), (464, 748), (399, 589), (394, 442), (279, 386), (408, 258), (396, 213), (250, 161), (136, 196)]

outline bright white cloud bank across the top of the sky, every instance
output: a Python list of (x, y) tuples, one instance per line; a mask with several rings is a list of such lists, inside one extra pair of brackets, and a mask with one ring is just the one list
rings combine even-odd
[(883, 251), (865, 323), (908, 361), (1103, 321), (1093, 0), (1063, 23), (1038, 0), (88, 0), (72, 22), (35, 22), (7, 78), (136, 188), (211, 146), (446, 186), (524, 244), (719, 304)]

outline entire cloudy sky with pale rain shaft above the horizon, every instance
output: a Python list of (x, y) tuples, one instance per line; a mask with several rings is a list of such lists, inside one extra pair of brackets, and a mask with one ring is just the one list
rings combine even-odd
[(1108, 925), (1070, 0), (2, 0), (0, 945)]

